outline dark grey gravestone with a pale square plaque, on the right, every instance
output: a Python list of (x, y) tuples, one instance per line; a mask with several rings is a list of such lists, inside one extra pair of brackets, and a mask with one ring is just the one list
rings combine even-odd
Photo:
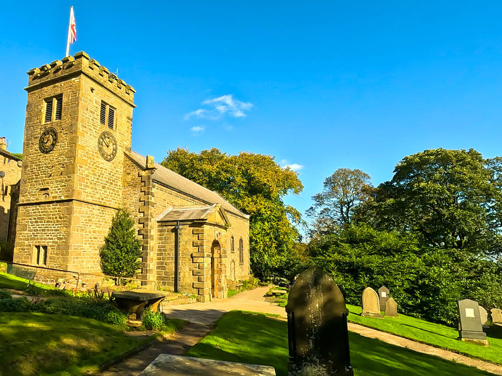
[(483, 332), (483, 325), (481, 325), (477, 302), (470, 299), (459, 300), (458, 315), (460, 316), (458, 325), (459, 339), (488, 346), (486, 333)]

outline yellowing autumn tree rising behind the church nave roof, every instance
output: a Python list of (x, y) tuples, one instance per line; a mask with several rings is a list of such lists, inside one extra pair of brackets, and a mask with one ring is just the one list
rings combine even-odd
[(300, 213), (285, 205), (284, 196), (299, 194), (298, 173), (282, 168), (270, 155), (222, 153), (212, 148), (200, 153), (169, 150), (162, 165), (216, 191), (250, 215), (251, 267), (255, 275), (269, 277), (284, 271), (301, 224)]

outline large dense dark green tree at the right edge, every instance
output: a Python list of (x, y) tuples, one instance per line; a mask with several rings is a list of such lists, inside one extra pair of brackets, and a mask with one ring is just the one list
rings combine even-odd
[(500, 161), (485, 160), (474, 149), (439, 148), (407, 156), (392, 180), (375, 191), (375, 224), (417, 233), (426, 246), (498, 254), (499, 166)]

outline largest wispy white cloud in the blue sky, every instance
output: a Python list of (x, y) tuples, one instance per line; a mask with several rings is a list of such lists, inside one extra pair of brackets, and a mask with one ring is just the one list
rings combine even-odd
[(245, 117), (246, 111), (253, 107), (253, 103), (242, 102), (233, 98), (232, 94), (222, 95), (218, 98), (207, 99), (202, 104), (209, 108), (199, 108), (185, 115), (185, 120), (191, 117), (216, 120), (225, 115), (230, 117)]

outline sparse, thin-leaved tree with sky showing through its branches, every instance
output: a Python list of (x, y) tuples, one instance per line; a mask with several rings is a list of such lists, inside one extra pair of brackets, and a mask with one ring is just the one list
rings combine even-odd
[(350, 224), (354, 210), (371, 199), (371, 190), (369, 175), (359, 169), (338, 168), (326, 177), (322, 192), (312, 197), (314, 204), (307, 210), (314, 233), (329, 234)]

